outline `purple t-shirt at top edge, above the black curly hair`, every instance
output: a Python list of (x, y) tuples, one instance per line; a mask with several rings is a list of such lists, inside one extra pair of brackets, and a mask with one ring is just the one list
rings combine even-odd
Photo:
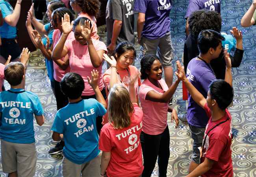
[(189, 0), (185, 18), (187, 19), (193, 11), (200, 9), (208, 9), (221, 13), (221, 0)]

